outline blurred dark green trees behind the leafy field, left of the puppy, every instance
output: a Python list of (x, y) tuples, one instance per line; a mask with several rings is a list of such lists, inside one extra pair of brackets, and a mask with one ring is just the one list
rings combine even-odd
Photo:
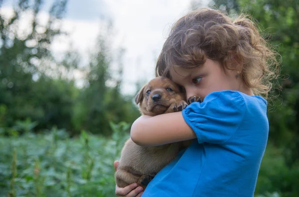
[[(122, 67), (113, 77), (107, 36), (99, 35), (89, 63), (82, 68), (76, 51), (62, 54), (60, 62), (52, 57), (52, 40), (65, 34), (57, 24), (66, 3), (56, 0), (44, 25), (37, 18), (40, 0), (19, 0), (12, 18), (0, 15), (0, 133), (17, 136), (57, 126), (71, 135), (82, 129), (110, 135), (109, 121), (132, 122), (140, 115), (133, 97), (121, 94)], [(26, 21), (28, 31), (20, 35), (19, 23), (28, 13), (33, 19)], [(122, 54), (120, 50), (119, 58)], [(86, 77), (82, 89), (75, 86), (74, 71)]]

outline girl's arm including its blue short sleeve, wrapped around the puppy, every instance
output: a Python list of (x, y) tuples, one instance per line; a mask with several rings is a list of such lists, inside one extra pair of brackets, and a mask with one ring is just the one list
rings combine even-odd
[[(257, 102), (263, 102), (258, 109), (264, 114), (266, 102)], [(237, 91), (214, 92), (204, 101), (192, 102), (179, 112), (141, 116), (132, 125), (131, 138), (140, 146), (158, 146), (194, 138), (198, 143), (224, 144), (239, 128), (247, 107)]]

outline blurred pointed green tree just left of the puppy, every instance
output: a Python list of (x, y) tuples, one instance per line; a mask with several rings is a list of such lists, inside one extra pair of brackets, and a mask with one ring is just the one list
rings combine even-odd
[(106, 43), (99, 39), (96, 49), (89, 64), (88, 86), (81, 90), (74, 106), (73, 123), (76, 130), (86, 129), (92, 133), (109, 135), (110, 121), (132, 122), (140, 112), (133, 104), (132, 96), (121, 94), (121, 68), (118, 70), (118, 78), (112, 77)]

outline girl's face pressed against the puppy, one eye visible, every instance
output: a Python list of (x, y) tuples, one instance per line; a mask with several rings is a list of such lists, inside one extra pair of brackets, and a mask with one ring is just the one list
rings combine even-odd
[(236, 70), (224, 72), (223, 66), (211, 59), (193, 69), (171, 67), (171, 80), (183, 86), (187, 98), (198, 95), (204, 99), (208, 94), (223, 90), (239, 90), (240, 81)]

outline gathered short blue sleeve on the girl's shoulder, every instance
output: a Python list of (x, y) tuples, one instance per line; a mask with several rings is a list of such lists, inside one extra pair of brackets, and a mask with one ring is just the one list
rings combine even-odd
[(240, 93), (220, 91), (207, 95), (202, 102), (192, 102), (182, 114), (198, 143), (224, 144), (241, 124), (245, 106)]

